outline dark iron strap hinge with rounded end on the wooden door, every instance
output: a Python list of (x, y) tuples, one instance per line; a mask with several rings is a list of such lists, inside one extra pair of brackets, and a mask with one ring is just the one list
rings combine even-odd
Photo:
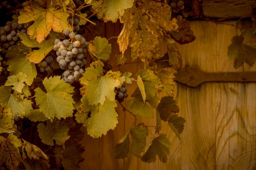
[(198, 87), (206, 82), (256, 82), (256, 71), (208, 73), (194, 66), (174, 74), (175, 81), (188, 87)]

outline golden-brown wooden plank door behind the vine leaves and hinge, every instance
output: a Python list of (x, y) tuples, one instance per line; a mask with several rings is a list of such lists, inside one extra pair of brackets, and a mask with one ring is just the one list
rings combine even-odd
[[(122, 26), (107, 23), (103, 36), (118, 36)], [(183, 68), (198, 66), (203, 71), (255, 71), (245, 65), (235, 70), (227, 59), (227, 47), (237, 29), (230, 25), (206, 21), (191, 22), (196, 40), (179, 46)], [(113, 54), (119, 53), (116, 38), (110, 40)], [(164, 46), (162, 47), (164, 49)], [(125, 54), (129, 56), (127, 51)], [(131, 62), (131, 61), (128, 61)], [(136, 62), (136, 61), (135, 61)], [(114, 59), (110, 63), (115, 66)], [(119, 66), (120, 71), (136, 74), (140, 63)], [(131, 95), (134, 85), (127, 85)], [(128, 97), (127, 100), (130, 98)], [(132, 154), (125, 159), (114, 159), (117, 141), (134, 123), (130, 113), (117, 107), (119, 124), (100, 139), (85, 135), (81, 170), (254, 170), (256, 169), (256, 83), (204, 83), (198, 88), (177, 84), (176, 100), (180, 115), (186, 119), (179, 141), (168, 125), (163, 132), (172, 142), (168, 162), (141, 162)], [(124, 105), (125, 105), (124, 102)], [(155, 119), (143, 119), (155, 125)], [(139, 122), (139, 121), (138, 121)], [(166, 124), (166, 123), (163, 123)], [(86, 130), (85, 130), (86, 131)]]

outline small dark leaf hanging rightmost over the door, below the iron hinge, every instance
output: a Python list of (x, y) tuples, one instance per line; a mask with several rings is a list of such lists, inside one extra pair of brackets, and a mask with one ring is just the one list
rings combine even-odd
[(178, 117), (177, 114), (171, 115), (168, 119), (169, 126), (174, 131), (176, 136), (180, 139), (180, 134), (184, 129), (184, 123), (186, 122), (183, 117)]

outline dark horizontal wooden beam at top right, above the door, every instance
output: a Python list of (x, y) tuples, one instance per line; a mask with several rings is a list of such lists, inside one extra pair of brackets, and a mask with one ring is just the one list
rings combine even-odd
[(202, 11), (206, 18), (251, 17), (251, 6), (255, 0), (203, 0)]

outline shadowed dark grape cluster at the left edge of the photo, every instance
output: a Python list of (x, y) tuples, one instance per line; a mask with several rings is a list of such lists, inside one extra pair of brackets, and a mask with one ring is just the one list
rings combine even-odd
[[(26, 24), (26, 27), (29, 26)], [(7, 21), (5, 26), (0, 27), (0, 47), (2, 49), (1, 54), (5, 54), (10, 46), (16, 45), (20, 40), (19, 33), (26, 33), (27, 28), (24, 28), (24, 24), (13, 23)]]

